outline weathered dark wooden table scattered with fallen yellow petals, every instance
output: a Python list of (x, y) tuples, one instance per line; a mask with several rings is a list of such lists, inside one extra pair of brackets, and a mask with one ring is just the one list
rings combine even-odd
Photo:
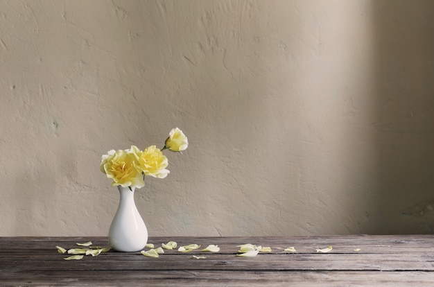
[[(106, 237), (0, 237), (1, 286), (434, 286), (434, 236), (155, 237), (159, 247), (196, 243), (220, 251), (101, 253), (66, 261), (65, 249)], [(237, 245), (271, 247), (236, 256)], [(329, 253), (316, 249), (331, 246)], [(296, 253), (284, 251), (295, 247)], [(201, 248), (202, 249), (202, 248)], [(147, 250), (147, 249), (146, 249)], [(196, 259), (195, 256), (206, 256)]]

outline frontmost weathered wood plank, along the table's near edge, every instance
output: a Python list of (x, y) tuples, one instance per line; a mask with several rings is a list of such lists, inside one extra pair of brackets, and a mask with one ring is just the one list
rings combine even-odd
[[(55, 284), (54, 284), (55, 283)], [(15, 286), (433, 286), (433, 272), (75, 271), (3, 274)]]

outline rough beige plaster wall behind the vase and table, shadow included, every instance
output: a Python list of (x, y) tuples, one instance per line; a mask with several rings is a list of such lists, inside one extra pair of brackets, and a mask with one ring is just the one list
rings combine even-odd
[(434, 233), (434, 1), (0, 0), (0, 236)]

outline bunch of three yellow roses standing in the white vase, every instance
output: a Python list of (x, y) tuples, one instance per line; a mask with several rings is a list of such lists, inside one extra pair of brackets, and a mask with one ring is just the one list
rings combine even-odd
[(131, 146), (126, 150), (109, 150), (101, 159), (101, 172), (113, 180), (112, 186), (135, 186), (140, 189), (145, 185), (145, 175), (164, 178), (170, 173), (167, 157), (163, 150), (181, 152), (189, 146), (189, 141), (184, 132), (179, 128), (173, 128), (160, 150), (156, 146), (149, 146), (139, 150), (137, 146)]

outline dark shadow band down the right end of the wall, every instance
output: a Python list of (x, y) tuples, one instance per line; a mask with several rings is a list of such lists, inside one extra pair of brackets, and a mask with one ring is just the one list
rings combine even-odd
[(377, 234), (434, 233), (434, 1), (373, 3)]

